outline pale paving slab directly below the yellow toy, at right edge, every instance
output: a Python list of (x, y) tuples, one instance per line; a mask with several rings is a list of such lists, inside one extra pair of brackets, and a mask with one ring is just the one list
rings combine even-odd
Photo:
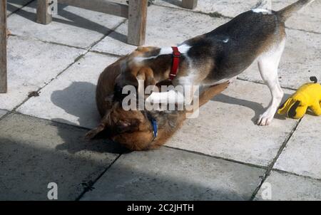
[(275, 163), (275, 169), (321, 179), (321, 117), (306, 115)]

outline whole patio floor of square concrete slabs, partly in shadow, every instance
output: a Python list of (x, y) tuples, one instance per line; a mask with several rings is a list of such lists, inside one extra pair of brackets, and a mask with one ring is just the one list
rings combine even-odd
[[(272, 9), (294, 1), (273, 0)], [(146, 46), (173, 46), (258, 2), (199, 0), (190, 11), (180, 1), (156, 0)], [(270, 100), (257, 65), (160, 150), (128, 152), (110, 140), (83, 139), (99, 122), (98, 75), (136, 48), (125, 43), (127, 20), (59, 5), (45, 26), (35, 22), (35, 1), (8, 4), (0, 200), (46, 200), (50, 182), (59, 200), (321, 200), (321, 117), (276, 115), (268, 127), (255, 125)], [(279, 75), (285, 98), (310, 76), (321, 80), (320, 11), (315, 1), (287, 22)], [(39, 96), (29, 98), (32, 91)]]

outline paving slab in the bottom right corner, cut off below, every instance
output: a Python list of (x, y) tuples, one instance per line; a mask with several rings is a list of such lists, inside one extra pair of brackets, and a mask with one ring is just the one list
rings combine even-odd
[[(320, 201), (321, 200), (321, 181), (299, 177), (287, 173), (272, 171), (255, 196), (255, 200), (272, 201)], [(267, 193), (272, 198), (267, 199)]]

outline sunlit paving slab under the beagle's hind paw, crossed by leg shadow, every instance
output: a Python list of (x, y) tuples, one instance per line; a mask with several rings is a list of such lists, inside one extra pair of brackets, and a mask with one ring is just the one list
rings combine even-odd
[(267, 166), (297, 122), (278, 117), (269, 126), (255, 125), (269, 102), (267, 86), (236, 80), (200, 108), (197, 118), (186, 120), (167, 145)]

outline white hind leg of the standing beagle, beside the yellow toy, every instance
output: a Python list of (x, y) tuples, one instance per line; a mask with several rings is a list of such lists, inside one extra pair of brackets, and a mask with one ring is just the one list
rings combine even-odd
[(263, 53), (263, 55), (258, 58), (260, 74), (269, 87), (272, 95), (272, 100), (269, 107), (262, 115), (260, 115), (258, 119), (258, 125), (270, 125), (275, 112), (281, 103), (283, 91), (278, 80), (277, 68), (280, 63), (280, 58), (282, 56), (284, 47), (285, 40), (282, 41), (277, 48), (272, 48), (272, 51)]

